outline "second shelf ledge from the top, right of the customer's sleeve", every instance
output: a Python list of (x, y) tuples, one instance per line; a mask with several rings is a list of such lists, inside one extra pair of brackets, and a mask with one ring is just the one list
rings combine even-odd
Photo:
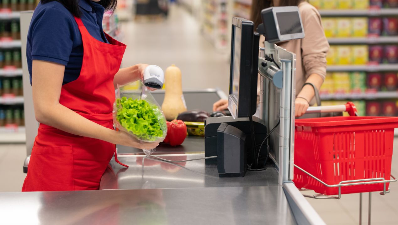
[(353, 38), (328, 38), (329, 44), (390, 44), (398, 43), (398, 36), (390, 37), (353, 37)]

